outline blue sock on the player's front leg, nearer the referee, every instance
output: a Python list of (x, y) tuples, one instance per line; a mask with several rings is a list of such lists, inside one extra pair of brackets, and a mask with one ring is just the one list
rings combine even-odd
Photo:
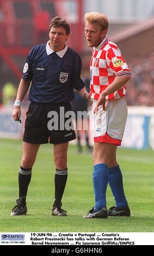
[(95, 193), (95, 209), (106, 207), (106, 190), (109, 180), (109, 169), (107, 164), (98, 163), (94, 166), (93, 184)]

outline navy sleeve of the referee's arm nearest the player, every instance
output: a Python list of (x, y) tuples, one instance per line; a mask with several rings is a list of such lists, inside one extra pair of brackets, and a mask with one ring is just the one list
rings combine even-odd
[(73, 70), (73, 88), (81, 90), (84, 87), (84, 82), (81, 79), (82, 62), (78, 54), (74, 58)]

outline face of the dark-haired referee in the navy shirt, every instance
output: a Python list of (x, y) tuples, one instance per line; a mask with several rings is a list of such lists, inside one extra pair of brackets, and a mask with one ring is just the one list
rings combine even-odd
[(53, 51), (61, 51), (65, 47), (65, 42), (69, 35), (66, 35), (66, 31), (63, 27), (52, 27), (49, 32), (50, 47)]

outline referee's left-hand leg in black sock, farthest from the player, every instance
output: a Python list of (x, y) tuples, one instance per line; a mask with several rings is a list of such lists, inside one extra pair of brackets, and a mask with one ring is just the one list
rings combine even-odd
[(19, 199), (17, 199), (17, 205), (11, 212), (12, 216), (23, 215), (27, 213), (27, 190), (32, 176), (32, 167), (35, 162), (36, 154), (39, 147), (39, 144), (30, 144), (23, 142), (23, 155), (19, 170)]

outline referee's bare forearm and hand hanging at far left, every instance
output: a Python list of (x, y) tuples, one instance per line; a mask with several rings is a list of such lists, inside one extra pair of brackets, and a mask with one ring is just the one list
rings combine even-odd
[(13, 118), (15, 121), (18, 121), (19, 118), (21, 117), (21, 108), (19, 105), (16, 105), (17, 101), (22, 101), (24, 96), (26, 95), (28, 88), (30, 86), (30, 81), (23, 80), (21, 78), (19, 88), (17, 90), (17, 96), (16, 96), (16, 101), (14, 104), (14, 109), (13, 109)]

